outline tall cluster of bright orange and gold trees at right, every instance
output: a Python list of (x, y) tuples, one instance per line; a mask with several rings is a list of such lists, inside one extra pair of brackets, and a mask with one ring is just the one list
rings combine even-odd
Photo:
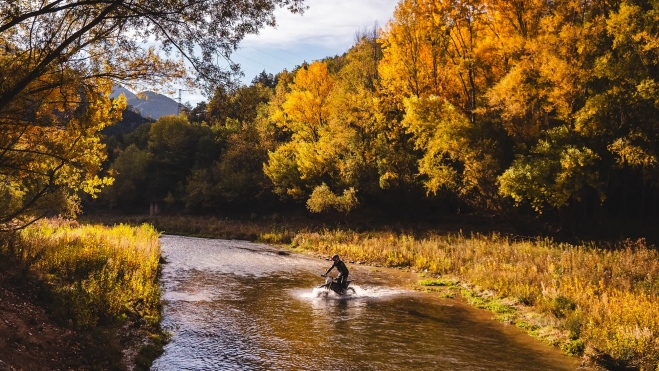
[(601, 204), (630, 182), (645, 194), (659, 179), (654, 8), (400, 1), (381, 33), (380, 92), (404, 111), (426, 189), (538, 212)]

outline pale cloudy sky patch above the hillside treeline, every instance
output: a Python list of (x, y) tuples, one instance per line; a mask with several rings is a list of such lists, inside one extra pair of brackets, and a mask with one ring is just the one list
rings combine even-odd
[[(289, 71), (302, 62), (343, 54), (354, 43), (357, 30), (384, 26), (398, 0), (306, 0), (309, 9), (300, 16), (279, 9), (277, 27), (267, 27), (259, 35), (248, 36), (233, 55), (241, 65), (248, 84), (265, 70), (275, 74)], [(183, 93), (183, 102), (193, 106), (204, 100), (198, 94)]]

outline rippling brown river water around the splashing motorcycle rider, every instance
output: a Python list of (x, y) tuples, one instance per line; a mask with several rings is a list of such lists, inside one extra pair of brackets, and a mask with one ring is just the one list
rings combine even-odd
[(356, 294), (319, 277), (329, 261), (243, 241), (163, 236), (163, 325), (152, 370), (575, 370), (560, 354), (418, 276), (348, 264)]

